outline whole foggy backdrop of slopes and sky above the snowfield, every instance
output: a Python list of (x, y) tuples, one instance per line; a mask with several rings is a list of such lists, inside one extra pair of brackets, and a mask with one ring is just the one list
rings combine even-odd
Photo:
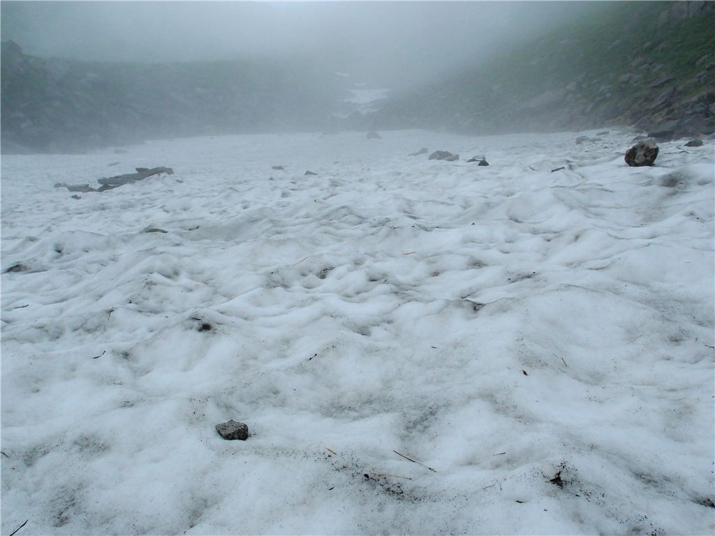
[[(709, 134), (713, 4), (3, 2), (2, 151), (631, 124)], [(355, 89), (391, 88), (365, 107)]]

